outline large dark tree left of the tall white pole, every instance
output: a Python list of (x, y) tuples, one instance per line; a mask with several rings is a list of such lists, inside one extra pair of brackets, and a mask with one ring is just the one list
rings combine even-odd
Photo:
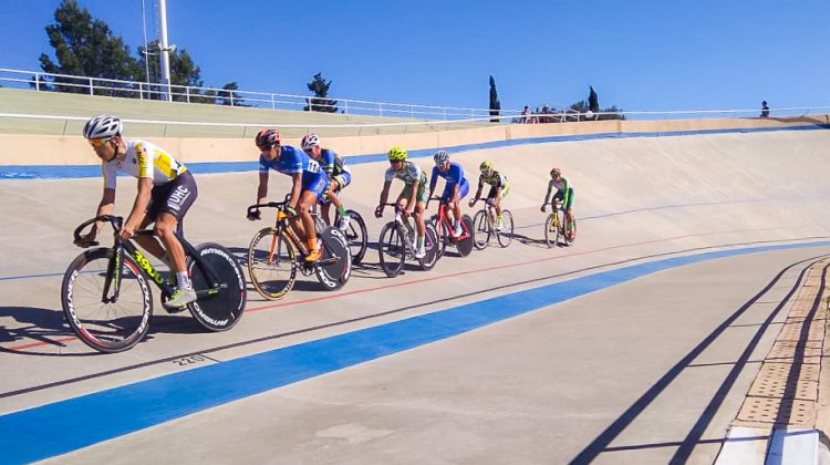
[[(42, 53), (39, 60), (44, 72), (124, 81), (134, 81), (139, 74), (138, 62), (131, 56), (124, 40), (114, 35), (105, 22), (92, 18), (85, 8), (79, 7), (76, 0), (63, 0), (54, 12), (54, 19), (55, 23), (46, 27), (46, 34), (58, 63)], [(86, 80), (79, 82), (69, 78), (52, 78), (44, 81), (46, 90), (90, 92)], [(95, 89), (96, 95), (135, 96), (135, 92), (118, 90), (134, 89), (129, 84), (101, 82), (98, 85), (114, 89)]]

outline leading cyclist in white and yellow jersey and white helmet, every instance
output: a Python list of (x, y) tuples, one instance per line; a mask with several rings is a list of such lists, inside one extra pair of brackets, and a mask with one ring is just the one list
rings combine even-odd
[[(138, 179), (133, 209), (118, 236), (125, 240), (135, 238), (138, 245), (176, 272), (176, 290), (164, 306), (168, 309), (184, 307), (196, 300), (196, 292), (187, 276), (185, 249), (176, 237), (176, 230), (196, 200), (196, 180), (185, 165), (162, 147), (137, 138), (124, 140), (121, 135), (123, 130), (124, 125), (117, 116), (106, 114), (95, 116), (84, 125), (84, 137), (103, 162), (104, 193), (96, 216), (113, 211), (118, 172)], [(154, 237), (134, 236), (136, 229), (144, 229), (151, 223), (155, 223), (153, 232), (162, 239), (164, 247)], [(75, 244), (90, 247), (101, 226), (100, 221), (96, 223)]]

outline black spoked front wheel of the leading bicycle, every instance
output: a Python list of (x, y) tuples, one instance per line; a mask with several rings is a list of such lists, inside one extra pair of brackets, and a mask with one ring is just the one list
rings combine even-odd
[[(138, 265), (128, 256), (120, 272), (110, 273), (110, 249), (87, 250), (69, 266), (61, 283), (66, 321), (86, 345), (104, 353), (123, 352), (149, 329), (153, 293)], [(104, 296), (107, 276), (108, 294)], [(120, 280), (120, 282), (116, 282)], [(117, 289), (118, 296), (113, 296)]]

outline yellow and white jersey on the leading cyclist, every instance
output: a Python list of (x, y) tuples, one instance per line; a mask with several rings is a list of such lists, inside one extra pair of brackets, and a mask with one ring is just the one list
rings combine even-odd
[(118, 172), (137, 178), (153, 178), (153, 185), (160, 186), (187, 170), (185, 165), (155, 144), (139, 138), (124, 141), (124, 143), (127, 145), (127, 155), (124, 159), (104, 162), (101, 166), (104, 174), (104, 188), (115, 188)]

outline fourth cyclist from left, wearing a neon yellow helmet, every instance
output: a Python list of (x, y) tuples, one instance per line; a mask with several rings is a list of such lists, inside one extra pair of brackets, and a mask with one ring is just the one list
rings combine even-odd
[(415, 244), (415, 258), (424, 258), (426, 257), (426, 249), (424, 248), (424, 236), (426, 235), (424, 210), (426, 209), (426, 202), (429, 199), (426, 195), (426, 173), (418, 165), (406, 161), (406, 149), (404, 147), (395, 145), (386, 156), (390, 159), (390, 167), (386, 169), (383, 190), (381, 192), (381, 202), (377, 208), (375, 208), (375, 217), (381, 218), (383, 216), (383, 208), (390, 195), (392, 179), (402, 179), (405, 187), (397, 196), (396, 203), (401, 204), (405, 216), (412, 214), (415, 217), (415, 227), (418, 232)]

